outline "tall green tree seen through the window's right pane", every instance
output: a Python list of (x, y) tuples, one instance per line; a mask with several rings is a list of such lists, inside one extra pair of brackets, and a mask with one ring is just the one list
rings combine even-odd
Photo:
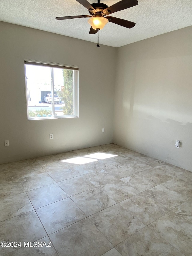
[(58, 96), (61, 101), (64, 101), (65, 106), (62, 107), (64, 115), (73, 115), (73, 70), (63, 69), (64, 85), (61, 86), (61, 91)]

